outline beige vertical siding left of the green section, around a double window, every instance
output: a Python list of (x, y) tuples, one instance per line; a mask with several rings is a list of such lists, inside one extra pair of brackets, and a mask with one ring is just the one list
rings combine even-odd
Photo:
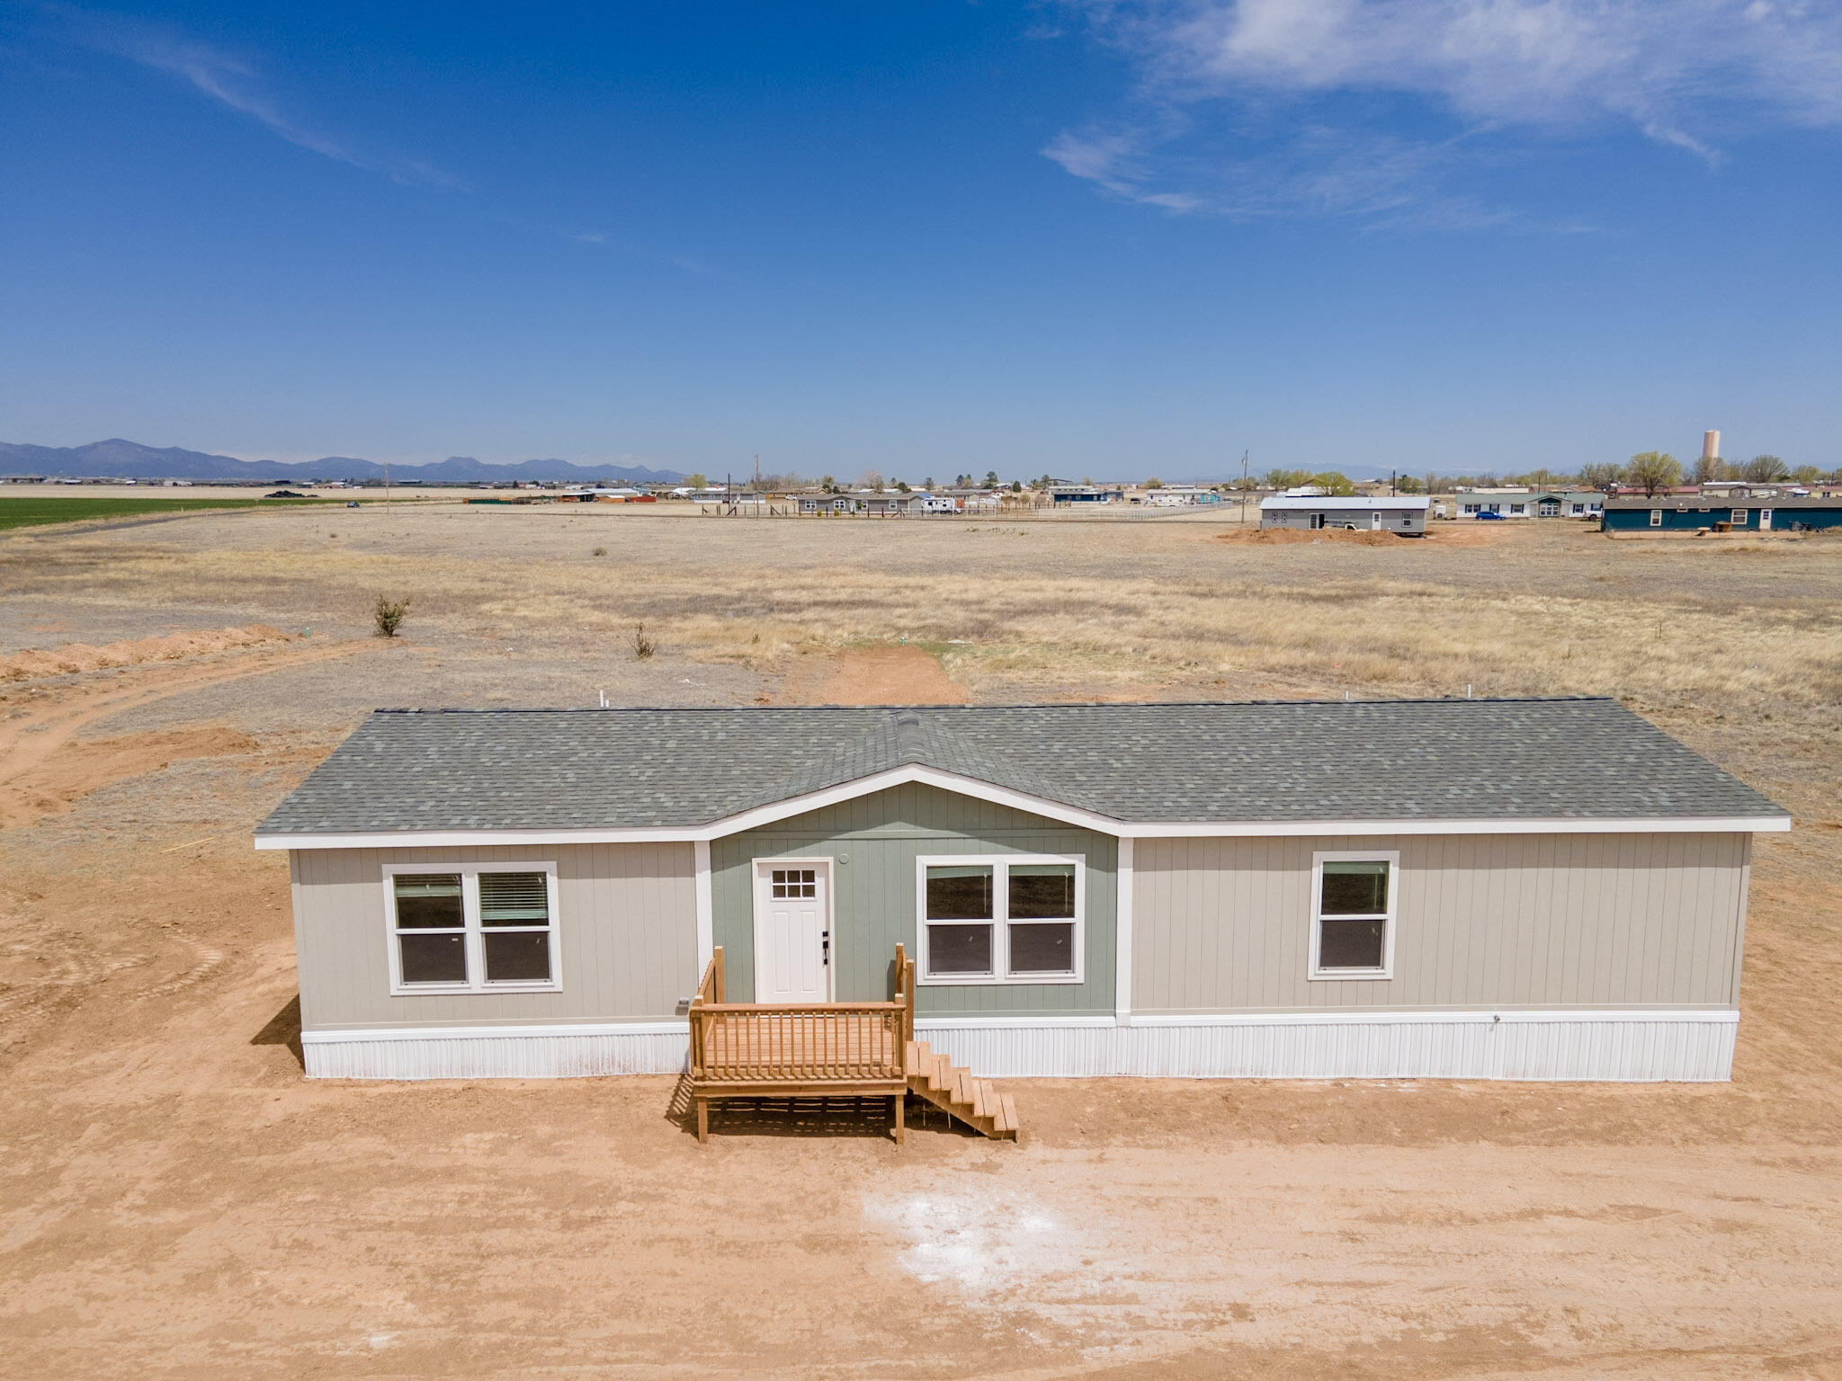
[[(391, 996), (385, 864), (556, 862), (560, 992)], [(689, 843), (304, 849), (293, 854), (300, 1024), (516, 1026), (663, 1020), (696, 989)]]

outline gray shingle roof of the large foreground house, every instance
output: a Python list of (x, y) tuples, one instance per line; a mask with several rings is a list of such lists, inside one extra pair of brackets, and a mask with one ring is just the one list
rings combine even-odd
[(378, 711), (262, 834), (698, 827), (925, 764), (1144, 823), (1781, 816), (1615, 700)]

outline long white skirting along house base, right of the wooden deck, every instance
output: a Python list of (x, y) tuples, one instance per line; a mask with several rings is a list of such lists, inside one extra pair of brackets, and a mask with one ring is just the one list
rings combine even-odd
[(987, 1079), (1724, 1081), (1733, 1011), (1330, 1013), (1103, 1020), (921, 1018)]

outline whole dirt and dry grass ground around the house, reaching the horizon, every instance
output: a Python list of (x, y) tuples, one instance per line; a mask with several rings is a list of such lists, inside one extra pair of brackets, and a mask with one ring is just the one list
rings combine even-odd
[[(1842, 1375), (1842, 543), (1218, 530), (341, 510), (0, 540), (0, 656), (197, 637), (0, 683), (4, 1370)], [(403, 639), (367, 635), (378, 593), (413, 595)], [(251, 624), (287, 637), (221, 637)], [(1389, 674), (1350, 626), (1396, 639)], [(1757, 851), (1731, 1085), (1013, 1081), (1019, 1145), (897, 1151), (851, 1107), (718, 1114), (698, 1147), (672, 1079), (300, 1077), (286, 862), (249, 836), (372, 705), (1466, 676), (1626, 694), (1798, 816)]]

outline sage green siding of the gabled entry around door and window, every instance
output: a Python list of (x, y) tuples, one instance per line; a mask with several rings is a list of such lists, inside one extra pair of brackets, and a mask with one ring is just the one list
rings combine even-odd
[(711, 900), (729, 998), (750, 1002), (755, 989), (755, 858), (836, 860), (838, 1000), (879, 1002), (890, 996), (895, 945), (914, 954), (915, 858), (1006, 853), (1087, 856), (1083, 981), (921, 987), (915, 1011), (1111, 1013), (1118, 840), (917, 783), (711, 843)]

